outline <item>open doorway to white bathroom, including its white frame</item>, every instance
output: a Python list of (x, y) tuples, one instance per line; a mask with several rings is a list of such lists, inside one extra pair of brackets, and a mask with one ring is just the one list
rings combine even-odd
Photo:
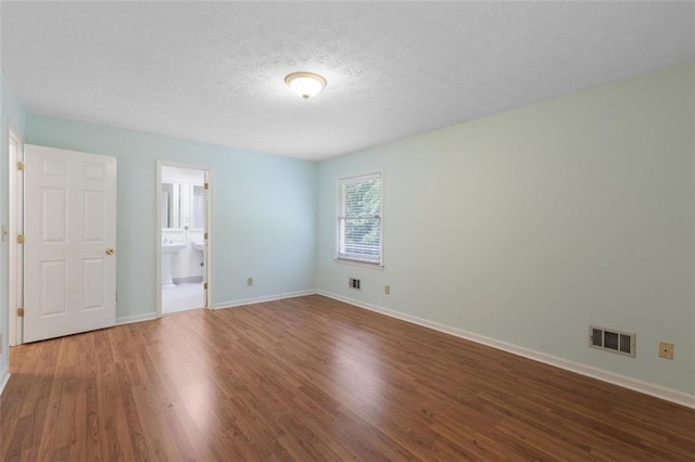
[(157, 315), (208, 306), (211, 178), (203, 166), (157, 161)]

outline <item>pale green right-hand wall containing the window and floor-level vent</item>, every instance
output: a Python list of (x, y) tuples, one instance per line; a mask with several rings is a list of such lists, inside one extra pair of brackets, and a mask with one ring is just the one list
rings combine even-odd
[[(321, 163), (318, 288), (695, 394), (694, 76), (681, 65)], [(336, 179), (378, 169), (386, 267), (337, 262)], [(637, 357), (589, 348), (589, 324), (635, 332)]]

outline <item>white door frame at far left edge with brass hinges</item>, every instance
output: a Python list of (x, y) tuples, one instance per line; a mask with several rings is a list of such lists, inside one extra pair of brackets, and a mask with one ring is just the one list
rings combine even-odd
[[(17, 149), (10, 151), (10, 142), (14, 140)], [(24, 319), (17, 316), (17, 308), (24, 304), (24, 254), (17, 243), (17, 234), (24, 233), (24, 177), (17, 168), (24, 162), (24, 141), (12, 128), (8, 119), (8, 310), (10, 311), (8, 342), (10, 346), (24, 343)]]

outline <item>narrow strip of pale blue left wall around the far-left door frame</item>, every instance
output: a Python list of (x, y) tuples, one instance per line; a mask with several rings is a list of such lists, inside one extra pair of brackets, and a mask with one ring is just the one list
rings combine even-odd
[[(9, 167), (9, 142), (8, 129), (12, 129), (18, 137), (24, 136), (24, 107), (17, 100), (17, 95), (8, 82), (4, 74), (1, 74), (0, 81), (0, 117), (2, 129), (0, 134), (0, 224), (8, 226), (8, 167)], [(9, 330), (9, 307), (8, 307), (8, 242), (3, 241), (0, 245), (0, 328), (2, 328), (2, 354), (0, 355), (0, 382), (8, 370), (9, 350), (8, 350), (8, 330)]]

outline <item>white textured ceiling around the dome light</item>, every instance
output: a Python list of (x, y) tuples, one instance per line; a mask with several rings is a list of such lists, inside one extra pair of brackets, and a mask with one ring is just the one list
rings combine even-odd
[[(692, 2), (8, 2), (29, 112), (309, 159), (695, 59)], [(323, 74), (304, 101), (287, 74)]]

